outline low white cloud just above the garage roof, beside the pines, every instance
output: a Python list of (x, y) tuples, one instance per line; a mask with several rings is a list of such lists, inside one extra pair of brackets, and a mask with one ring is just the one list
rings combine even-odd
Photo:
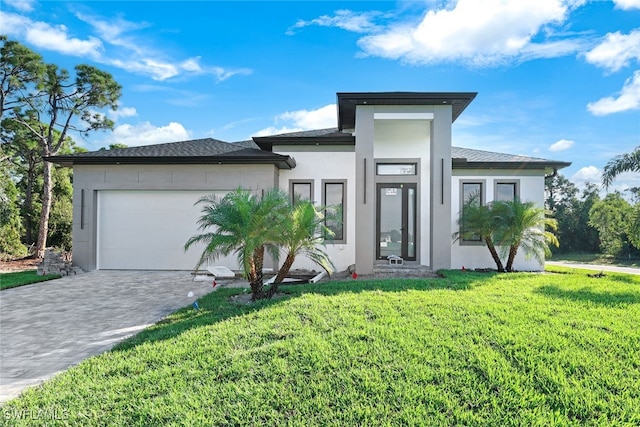
[(122, 124), (116, 126), (113, 132), (105, 138), (105, 143), (107, 145), (121, 143), (129, 147), (136, 147), (161, 144), (163, 142), (185, 141), (190, 138), (189, 131), (180, 123), (170, 122), (166, 126), (158, 127), (150, 122), (142, 122), (136, 125)]

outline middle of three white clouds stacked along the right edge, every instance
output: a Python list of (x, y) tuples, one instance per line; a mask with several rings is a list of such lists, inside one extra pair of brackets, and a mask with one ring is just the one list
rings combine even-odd
[(590, 64), (614, 72), (640, 60), (640, 29), (629, 34), (619, 31), (606, 35), (604, 41), (585, 54)]

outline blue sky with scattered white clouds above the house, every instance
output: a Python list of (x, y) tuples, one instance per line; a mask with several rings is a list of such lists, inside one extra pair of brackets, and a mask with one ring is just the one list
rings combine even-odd
[(90, 150), (335, 127), (336, 92), (375, 91), (478, 92), (454, 145), (577, 184), (640, 145), (640, 0), (1, 0), (0, 32), (123, 86)]

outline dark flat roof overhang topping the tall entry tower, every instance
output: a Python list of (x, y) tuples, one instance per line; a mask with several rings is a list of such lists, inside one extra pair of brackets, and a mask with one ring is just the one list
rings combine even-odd
[(338, 92), (338, 130), (354, 129), (358, 105), (451, 105), (454, 122), (477, 92)]

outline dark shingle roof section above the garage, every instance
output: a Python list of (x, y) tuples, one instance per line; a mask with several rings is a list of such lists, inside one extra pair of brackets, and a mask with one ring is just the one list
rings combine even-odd
[(247, 148), (248, 141), (232, 144), (213, 138), (140, 147), (98, 150), (87, 153), (49, 157), (47, 160), (63, 166), (74, 164), (274, 164), (279, 168), (295, 167), (289, 156), (270, 153), (258, 148)]

